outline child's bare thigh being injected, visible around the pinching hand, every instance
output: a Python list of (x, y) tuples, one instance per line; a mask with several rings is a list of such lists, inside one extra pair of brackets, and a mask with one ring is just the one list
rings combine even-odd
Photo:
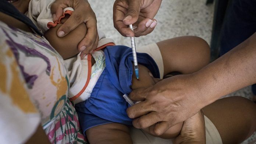
[[(132, 89), (134, 90), (134, 89), (139, 89), (141, 87), (149, 87), (156, 84), (156, 82), (159, 82), (160, 80), (161, 79), (154, 78), (151, 72), (149, 71), (149, 69), (147, 69), (145, 66), (139, 65), (139, 80), (136, 79), (135, 75), (132, 75)], [(173, 127), (170, 127), (170, 129), (168, 129), (164, 134), (157, 137), (168, 138), (168, 139), (174, 138), (178, 136), (178, 134), (180, 133), (182, 125), (183, 125), (183, 122), (178, 123)], [(145, 130), (146, 132), (149, 132), (149, 129), (143, 129), (143, 130)]]

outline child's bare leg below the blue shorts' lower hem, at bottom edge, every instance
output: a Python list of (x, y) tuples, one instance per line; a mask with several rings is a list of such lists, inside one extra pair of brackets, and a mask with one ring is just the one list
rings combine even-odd
[(86, 130), (90, 144), (132, 144), (127, 126), (120, 123), (108, 123)]

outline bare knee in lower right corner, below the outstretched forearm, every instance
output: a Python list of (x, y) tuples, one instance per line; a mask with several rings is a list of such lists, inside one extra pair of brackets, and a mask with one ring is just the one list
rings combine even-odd
[(256, 104), (243, 97), (227, 97), (203, 108), (223, 144), (237, 144), (256, 130)]

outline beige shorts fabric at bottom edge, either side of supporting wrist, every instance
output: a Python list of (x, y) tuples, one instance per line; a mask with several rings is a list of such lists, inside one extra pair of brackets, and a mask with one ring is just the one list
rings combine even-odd
[[(205, 129), (206, 129), (206, 144), (222, 144), (222, 140), (218, 130), (205, 116)], [(134, 144), (172, 144), (171, 139), (163, 139), (159, 137), (151, 136), (146, 132), (134, 127), (130, 128), (130, 134)]]

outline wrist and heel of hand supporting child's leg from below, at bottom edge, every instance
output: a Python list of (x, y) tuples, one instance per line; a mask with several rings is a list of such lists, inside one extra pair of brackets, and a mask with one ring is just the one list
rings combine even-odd
[(205, 144), (205, 118), (202, 111), (184, 121), (179, 136), (173, 140), (174, 144)]

